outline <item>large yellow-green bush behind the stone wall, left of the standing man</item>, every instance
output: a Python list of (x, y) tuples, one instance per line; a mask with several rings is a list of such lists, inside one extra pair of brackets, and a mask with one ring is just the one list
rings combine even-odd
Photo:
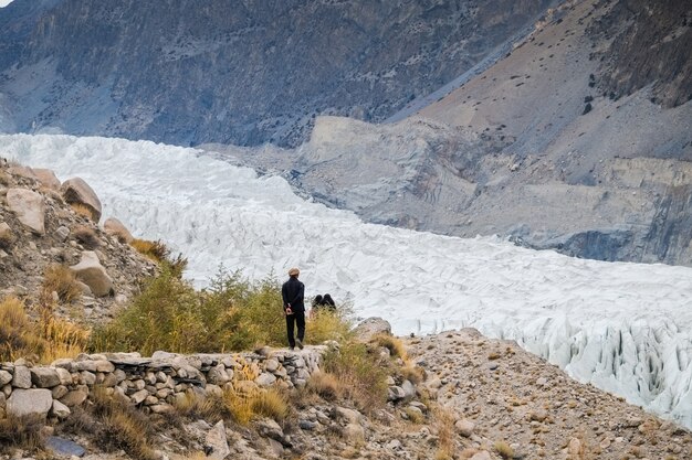
[(273, 277), (250, 282), (221, 268), (208, 289), (196, 291), (166, 265), (111, 323), (94, 331), (94, 351), (156, 350), (213, 353), (283, 345), (281, 286)]

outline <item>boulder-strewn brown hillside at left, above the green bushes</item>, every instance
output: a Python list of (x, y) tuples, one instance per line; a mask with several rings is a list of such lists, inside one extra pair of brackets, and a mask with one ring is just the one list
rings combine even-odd
[(61, 184), (50, 170), (0, 159), (0, 299), (23, 299), (31, 314), (48, 300), (86, 322), (126, 303), (156, 265), (127, 244), (116, 220), (104, 231), (99, 218), (101, 202), (81, 179)]

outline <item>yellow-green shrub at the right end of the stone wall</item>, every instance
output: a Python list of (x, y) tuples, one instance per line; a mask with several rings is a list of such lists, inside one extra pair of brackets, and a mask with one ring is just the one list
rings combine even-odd
[(324, 371), (334, 374), (345, 395), (370, 411), (387, 400), (387, 374), (376, 353), (363, 343), (346, 343), (325, 354)]

